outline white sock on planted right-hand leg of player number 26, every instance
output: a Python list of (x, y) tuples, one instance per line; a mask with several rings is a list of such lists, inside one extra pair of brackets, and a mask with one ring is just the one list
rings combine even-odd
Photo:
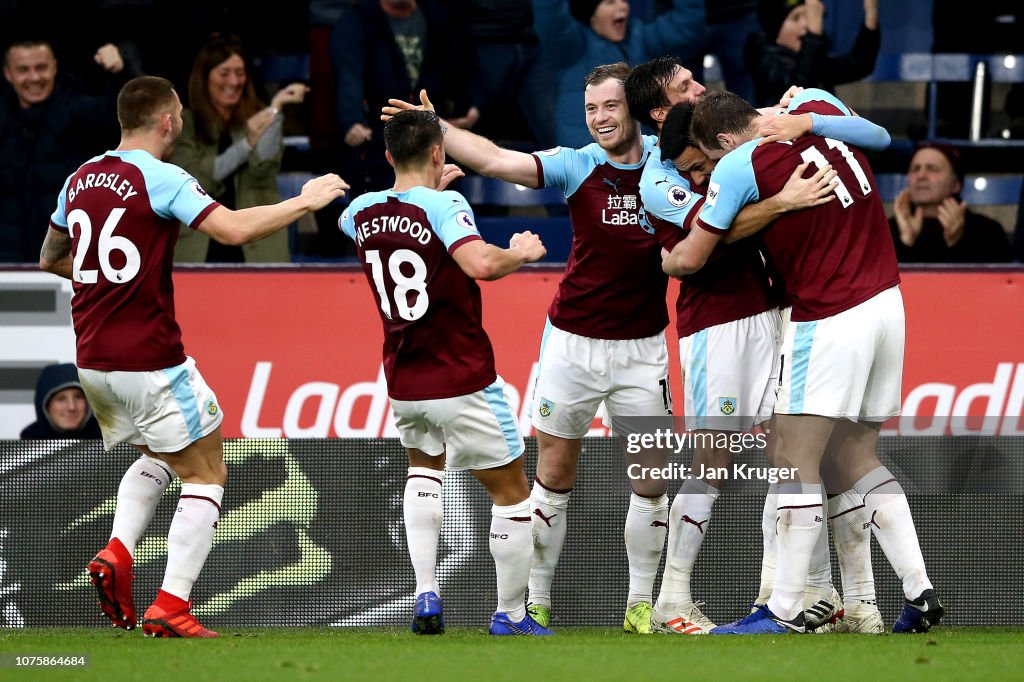
[(213, 483), (182, 483), (178, 510), (167, 532), (167, 571), (161, 589), (188, 601), (193, 585), (213, 547), (224, 488)]

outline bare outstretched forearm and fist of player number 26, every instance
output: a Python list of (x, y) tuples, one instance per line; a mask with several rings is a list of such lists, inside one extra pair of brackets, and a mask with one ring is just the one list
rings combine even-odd
[(348, 183), (334, 173), (321, 175), (302, 185), (302, 193), (298, 197), (278, 204), (238, 211), (218, 206), (197, 229), (221, 244), (248, 244), (272, 235), (306, 213), (318, 211), (344, 196), (345, 189), (348, 189)]

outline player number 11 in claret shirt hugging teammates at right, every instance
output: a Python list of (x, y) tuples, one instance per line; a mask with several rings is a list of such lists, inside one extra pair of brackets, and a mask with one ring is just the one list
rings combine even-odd
[[(790, 111), (850, 115), (821, 90), (805, 90)], [(859, 150), (829, 137), (810, 134), (759, 145), (759, 116), (729, 92), (697, 104), (693, 137), (720, 161), (696, 228), (665, 260), (668, 273), (699, 270), (738, 211), (777, 193), (801, 164), (830, 165), (839, 182), (836, 201), (785, 214), (763, 235), (793, 308), (782, 341), (775, 464), (798, 468), (799, 482), (779, 488), (778, 563), (768, 603), (712, 632), (804, 631), (808, 565), (825, 517), (820, 465), (826, 454), (838, 468), (839, 489), (860, 497), (869, 527), (902, 581), (905, 601), (893, 631), (925, 632), (940, 621), (943, 607), (928, 579), (903, 489), (877, 454), (882, 423), (899, 414), (905, 325), (874, 178)]]

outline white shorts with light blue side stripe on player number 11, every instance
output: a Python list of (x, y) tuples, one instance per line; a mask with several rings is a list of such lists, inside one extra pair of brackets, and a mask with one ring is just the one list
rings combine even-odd
[(791, 322), (775, 412), (867, 422), (898, 415), (905, 336), (899, 287), (830, 317)]

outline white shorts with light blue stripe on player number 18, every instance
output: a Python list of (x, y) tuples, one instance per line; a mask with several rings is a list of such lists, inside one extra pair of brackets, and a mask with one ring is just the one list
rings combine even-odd
[(391, 410), (401, 444), (431, 457), (444, 453), (450, 471), (494, 469), (523, 453), (501, 377), (482, 390), (456, 397), (391, 398)]

